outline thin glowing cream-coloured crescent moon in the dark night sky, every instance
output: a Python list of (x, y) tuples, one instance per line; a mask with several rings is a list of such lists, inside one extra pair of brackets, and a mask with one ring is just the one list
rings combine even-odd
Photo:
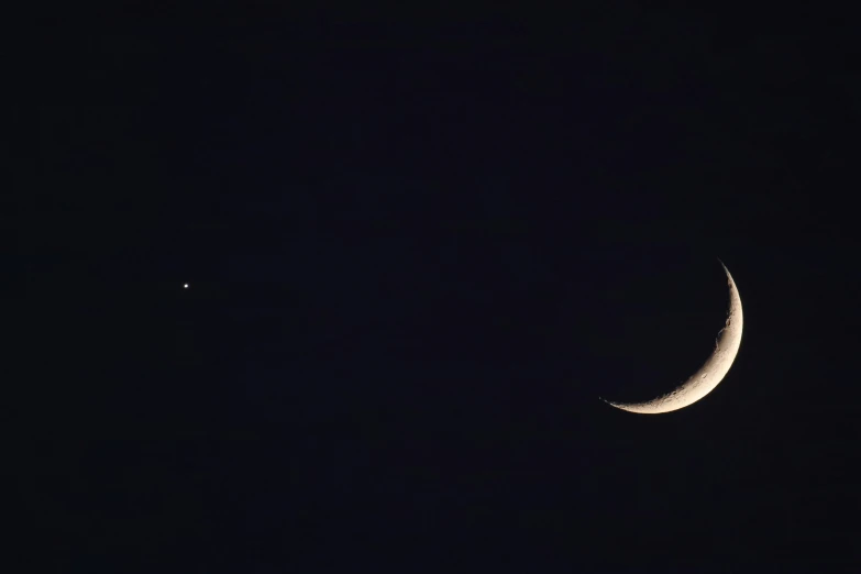
[(715, 387), (724, 379), (736, 360), (741, 345), (741, 328), (744, 323), (741, 313), (741, 297), (739, 297), (739, 291), (736, 288), (736, 282), (732, 280), (732, 275), (729, 274), (729, 269), (724, 265), (724, 262), (718, 261), (727, 274), (729, 309), (727, 311), (726, 324), (715, 340), (715, 351), (703, 363), (699, 371), (691, 375), (687, 380), (674, 390), (645, 402), (610, 402), (606, 399), (601, 400), (628, 412), (660, 415), (683, 409), (715, 390)]

